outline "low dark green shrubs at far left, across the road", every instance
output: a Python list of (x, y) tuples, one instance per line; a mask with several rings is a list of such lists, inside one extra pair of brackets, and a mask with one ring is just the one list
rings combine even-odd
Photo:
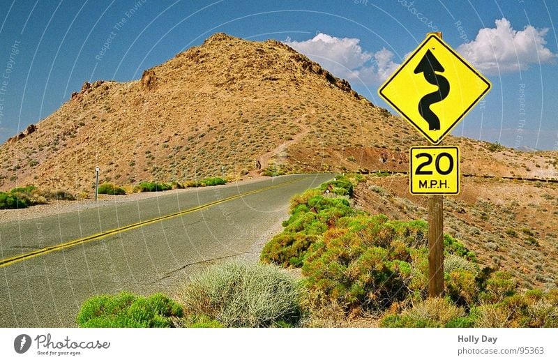
[(52, 200), (74, 200), (74, 195), (65, 190), (40, 190), (36, 186), (13, 188), (0, 191), (0, 209), (25, 209), (29, 206), (47, 204)]

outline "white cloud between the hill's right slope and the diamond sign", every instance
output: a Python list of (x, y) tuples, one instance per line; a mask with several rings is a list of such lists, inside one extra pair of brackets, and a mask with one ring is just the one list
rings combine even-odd
[(319, 33), (309, 40), (299, 42), (287, 38), (284, 43), (320, 63), (335, 77), (361, 84), (383, 82), (399, 66), (393, 62), (393, 53), (386, 48), (375, 53), (365, 52), (360, 41)]

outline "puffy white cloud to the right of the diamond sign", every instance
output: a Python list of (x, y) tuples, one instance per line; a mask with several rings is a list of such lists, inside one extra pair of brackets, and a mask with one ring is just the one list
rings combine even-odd
[(465, 59), (485, 73), (497, 74), (527, 70), (530, 64), (554, 63), (556, 54), (545, 47), (548, 29), (528, 25), (514, 30), (503, 17), (496, 28), (483, 28), (471, 43), (458, 47)]

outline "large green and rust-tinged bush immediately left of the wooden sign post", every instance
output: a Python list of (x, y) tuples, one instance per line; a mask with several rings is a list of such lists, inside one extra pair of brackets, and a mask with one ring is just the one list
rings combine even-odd
[[(303, 262), (308, 288), (347, 312), (381, 310), (425, 291), (428, 227), (384, 215), (340, 218)], [(428, 259), (426, 259), (428, 260)]]

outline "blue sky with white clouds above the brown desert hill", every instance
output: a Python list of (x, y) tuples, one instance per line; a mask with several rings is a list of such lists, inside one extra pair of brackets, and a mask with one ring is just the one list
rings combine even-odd
[(493, 86), (454, 135), (558, 149), (555, 24), (550, 0), (0, 0), (0, 142), (85, 80), (137, 79), (218, 31), (287, 41), (387, 107), (382, 80), (437, 30)]

